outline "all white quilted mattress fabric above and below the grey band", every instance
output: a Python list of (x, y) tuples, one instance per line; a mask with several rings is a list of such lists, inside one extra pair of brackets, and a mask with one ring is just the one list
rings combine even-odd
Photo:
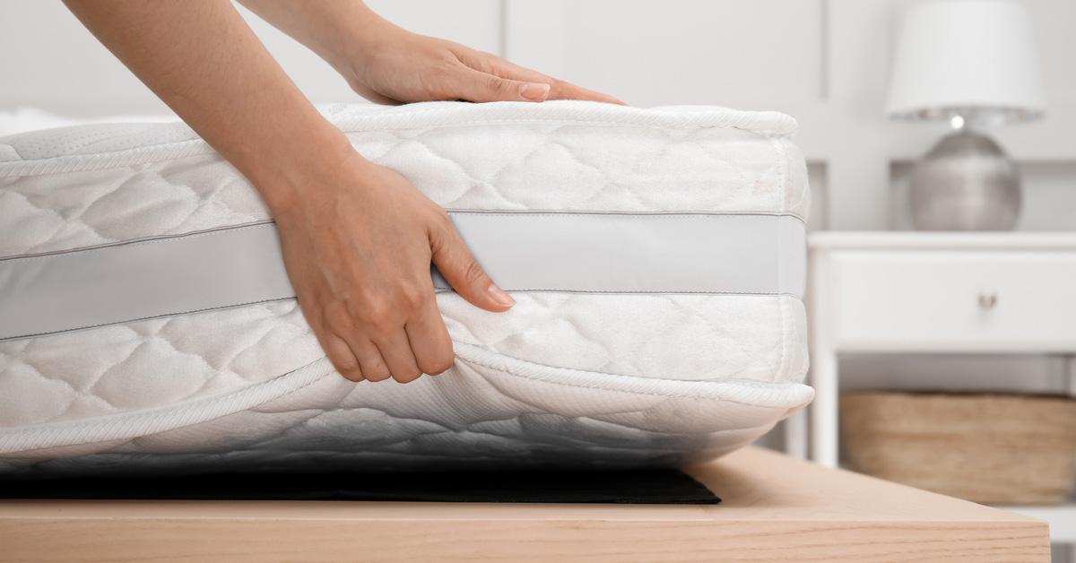
[[(780, 114), (582, 102), (326, 114), (450, 209), (807, 212)], [(182, 124), (0, 139), (0, 257), (266, 219)], [(741, 447), (810, 400), (795, 297), (515, 297), (493, 314), (439, 295), (457, 363), (409, 385), (334, 374), (294, 300), (0, 342), (0, 469), (677, 464)]]

